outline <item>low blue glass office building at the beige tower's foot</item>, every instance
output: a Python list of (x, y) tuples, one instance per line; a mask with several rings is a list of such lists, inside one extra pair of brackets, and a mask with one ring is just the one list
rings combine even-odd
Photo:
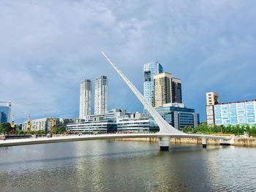
[[(178, 130), (184, 127), (196, 128), (199, 122), (199, 114), (194, 109), (187, 108), (184, 104), (164, 104), (162, 107), (155, 108), (167, 123)], [(151, 118), (150, 114), (146, 114)], [(153, 120), (153, 118), (151, 118)], [(158, 129), (156, 123), (151, 126), (151, 130)]]

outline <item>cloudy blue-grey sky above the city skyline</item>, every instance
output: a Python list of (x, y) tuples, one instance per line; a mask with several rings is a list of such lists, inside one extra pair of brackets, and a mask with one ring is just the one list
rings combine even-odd
[[(206, 92), (256, 99), (256, 1), (0, 1), (0, 101), (15, 121), (78, 118), (79, 82), (109, 79), (108, 108), (143, 106), (101, 50), (143, 93), (143, 64), (181, 78), (206, 119)], [(92, 104), (93, 105), (93, 104)]]

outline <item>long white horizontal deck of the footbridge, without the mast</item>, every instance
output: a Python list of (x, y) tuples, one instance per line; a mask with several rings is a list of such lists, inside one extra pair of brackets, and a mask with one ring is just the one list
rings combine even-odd
[(31, 139), (10, 139), (0, 140), (0, 147), (18, 146), (18, 145), (35, 145), (54, 142), (75, 142), (97, 139), (123, 139), (123, 138), (154, 138), (154, 137), (172, 137), (172, 138), (200, 138), (200, 139), (230, 139), (230, 137), (211, 136), (203, 134), (96, 134), (82, 136), (62, 136), (62, 137), (44, 137)]

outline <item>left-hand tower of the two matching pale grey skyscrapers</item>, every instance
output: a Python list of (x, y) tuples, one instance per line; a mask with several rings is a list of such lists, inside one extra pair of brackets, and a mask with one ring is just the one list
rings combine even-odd
[(91, 115), (91, 80), (80, 82), (79, 118)]

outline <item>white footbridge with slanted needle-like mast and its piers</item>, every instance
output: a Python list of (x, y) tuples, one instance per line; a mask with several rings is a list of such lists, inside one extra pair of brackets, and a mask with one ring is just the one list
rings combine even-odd
[(17, 146), (17, 145), (34, 145), (34, 144), (43, 144), (43, 143), (53, 143), (53, 142), (74, 142), (74, 141), (83, 141), (83, 140), (95, 140), (95, 139), (122, 139), (122, 138), (153, 138), (157, 137), (159, 142), (160, 150), (169, 150), (170, 138), (199, 138), (202, 139), (203, 147), (207, 145), (207, 139), (219, 139), (220, 144), (230, 145), (233, 143), (232, 137), (222, 137), (222, 136), (211, 136), (204, 134), (185, 134), (181, 131), (178, 131), (176, 128), (167, 123), (166, 120), (162, 118), (161, 115), (148, 104), (148, 101), (143, 97), (143, 95), (132, 85), (132, 82), (124, 75), (121, 70), (113, 63), (113, 61), (108, 58), (107, 55), (102, 51), (102, 54), (105, 56), (107, 61), (113, 66), (113, 69), (118, 72), (120, 77), (127, 83), (129, 88), (135, 93), (135, 96), (138, 97), (140, 102), (143, 104), (146, 110), (150, 113), (152, 118), (159, 126), (159, 132), (156, 134), (97, 134), (97, 135), (82, 135), (82, 136), (66, 136), (66, 137), (52, 137), (52, 138), (35, 138), (35, 139), (12, 139), (0, 141), (0, 147), (7, 146)]

